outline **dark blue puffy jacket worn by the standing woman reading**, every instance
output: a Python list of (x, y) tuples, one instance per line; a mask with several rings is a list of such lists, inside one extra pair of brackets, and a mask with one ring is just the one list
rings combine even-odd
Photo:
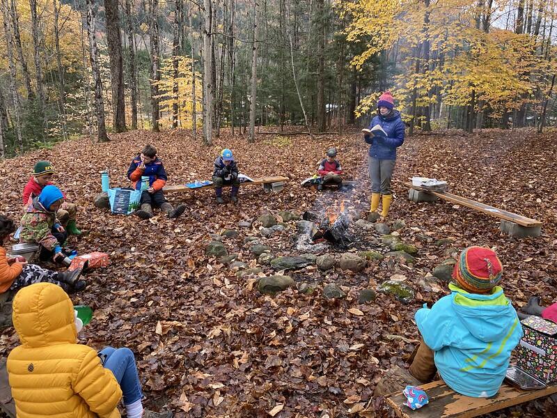
[(405, 124), (400, 118), (400, 111), (395, 110), (391, 116), (386, 118), (381, 115), (375, 116), (371, 120), (369, 129), (375, 125), (380, 125), (387, 137), (366, 135), (364, 139), (371, 144), (368, 154), (378, 160), (395, 160), (396, 148), (405, 141)]

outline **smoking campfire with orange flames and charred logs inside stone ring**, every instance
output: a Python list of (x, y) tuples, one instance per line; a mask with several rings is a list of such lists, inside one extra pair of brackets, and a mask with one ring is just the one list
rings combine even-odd
[(315, 226), (309, 231), (309, 235), (313, 241), (325, 239), (333, 244), (347, 247), (352, 242), (352, 238), (348, 233), (350, 226), (350, 216), (345, 211), (344, 200), (336, 201), (329, 206), (321, 216), (315, 212), (304, 212), (303, 218), (306, 221), (313, 222)]

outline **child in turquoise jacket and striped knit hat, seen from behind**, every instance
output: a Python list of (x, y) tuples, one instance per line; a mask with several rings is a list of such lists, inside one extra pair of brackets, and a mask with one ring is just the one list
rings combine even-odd
[(423, 341), (409, 368), (414, 378), (431, 381), (439, 371), (460, 394), (482, 398), (499, 392), (510, 353), (522, 337), (517, 312), (497, 286), (502, 272), (491, 249), (462, 251), (450, 295), (416, 312)]

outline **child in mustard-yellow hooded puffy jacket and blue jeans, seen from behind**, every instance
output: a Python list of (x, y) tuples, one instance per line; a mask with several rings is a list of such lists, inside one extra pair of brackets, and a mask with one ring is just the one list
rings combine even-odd
[(18, 418), (171, 417), (143, 410), (134, 354), (128, 348), (97, 352), (77, 343), (70, 297), (49, 283), (22, 288), (13, 300), (13, 325), (21, 346), (8, 355), (8, 375)]

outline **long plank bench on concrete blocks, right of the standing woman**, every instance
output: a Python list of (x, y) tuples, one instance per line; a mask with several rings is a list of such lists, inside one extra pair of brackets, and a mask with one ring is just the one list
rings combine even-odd
[(538, 237), (542, 233), (542, 222), (508, 212), (507, 210), (494, 208), (466, 197), (457, 196), (449, 192), (432, 192), (425, 187), (415, 186), (412, 183), (404, 182), (409, 187), (408, 199), (414, 202), (432, 202), (437, 199), (444, 199), (457, 205), (466, 206), (478, 212), (485, 213), (493, 217), (501, 219), (500, 229), (503, 233), (507, 233), (516, 238)]

